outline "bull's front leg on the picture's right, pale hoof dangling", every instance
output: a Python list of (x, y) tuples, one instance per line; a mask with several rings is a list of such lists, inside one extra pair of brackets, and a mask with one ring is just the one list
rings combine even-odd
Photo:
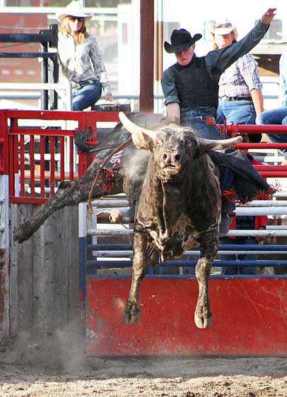
[(216, 252), (218, 251), (218, 228), (206, 232), (200, 241), (201, 254), (195, 268), (199, 283), (199, 296), (194, 312), (194, 322), (198, 328), (211, 326), (212, 314), (209, 307), (209, 276)]

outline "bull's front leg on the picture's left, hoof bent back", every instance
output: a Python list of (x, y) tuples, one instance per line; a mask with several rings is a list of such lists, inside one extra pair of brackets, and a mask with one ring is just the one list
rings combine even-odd
[(134, 324), (139, 320), (139, 288), (141, 280), (146, 274), (147, 268), (147, 245), (148, 235), (144, 232), (139, 225), (134, 227), (134, 258), (131, 269), (131, 288), (129, 290), (129, 297), (124, 306), (122, 319), (126, 324)]

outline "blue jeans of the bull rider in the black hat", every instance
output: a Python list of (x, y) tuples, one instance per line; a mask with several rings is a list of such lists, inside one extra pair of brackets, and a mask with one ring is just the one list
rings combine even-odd
[(216, 119), (216, 110), (186, 109), (180, 114), (180, 124), (194, 131), (197, 136), (206, 139), (224, 139), (216, 125), (207, 126), (204, 117), (211, 116)]

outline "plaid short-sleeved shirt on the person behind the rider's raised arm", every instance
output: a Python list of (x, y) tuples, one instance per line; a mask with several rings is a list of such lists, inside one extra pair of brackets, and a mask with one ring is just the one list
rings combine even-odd
[(221, 75), (219, 97), (251, 97), (251, 90), (262, 90), (257, 61), (246, 54), (234, 62)]

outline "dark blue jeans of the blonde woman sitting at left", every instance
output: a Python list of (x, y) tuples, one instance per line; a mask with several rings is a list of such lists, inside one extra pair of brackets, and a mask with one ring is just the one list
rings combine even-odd
[(83, 109), (94, 105), (100, 99), (102, 84), (98, 80), (91, 81), (93, 83), (73, 90), (73, 110), (83, 111)]

